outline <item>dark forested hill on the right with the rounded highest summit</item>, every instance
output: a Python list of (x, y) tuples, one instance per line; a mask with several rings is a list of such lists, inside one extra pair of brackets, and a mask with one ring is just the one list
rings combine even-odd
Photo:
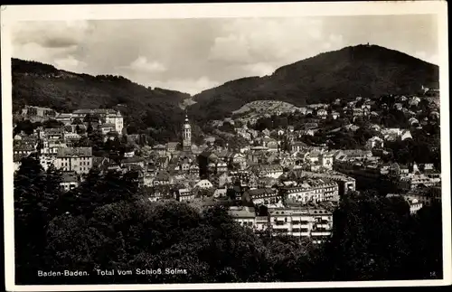
[[(201, 119), (220, 119), (254, 100), (275, 99), (303, 106), (382, 94), (438, 88), (438, 66), (377, 45), (358, 45), (284, 66), (271, 76), (229, 81), (195, 95), (189, 110)], [(207, 110), (209, 109), (209, 110)]]

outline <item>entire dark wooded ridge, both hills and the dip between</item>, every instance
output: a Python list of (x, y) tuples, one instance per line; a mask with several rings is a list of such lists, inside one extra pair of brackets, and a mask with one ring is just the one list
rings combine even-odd
[[(188, 93), (146, 87), (122, 76), (89, 75), (37, 61), (12, 59), (13, 108), (115, 108), (125, 104), (127, 122), (168, 127), (182, 122), (184, 109), (198, 122), (230, 117), (247, 103), (270, 99), (301, 107), (309, 103), (410, 94), (421, 85), (438, 88), (438, 66), (378, 45), (344, 47), (279, 67), (271, 75), (229, 80)], [(195, 102), (195, 103), (193, 103)], [(175, 126), (174, 126), (175, 127)], [(172, 129), (177, 132), (177, 129)]]

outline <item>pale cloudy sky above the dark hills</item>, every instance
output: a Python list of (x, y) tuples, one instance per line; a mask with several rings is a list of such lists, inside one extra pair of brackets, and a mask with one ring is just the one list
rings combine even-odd
[(13, 57), (196, 94), (363, 43), (438, 64), (435, 15), (20, 22)]

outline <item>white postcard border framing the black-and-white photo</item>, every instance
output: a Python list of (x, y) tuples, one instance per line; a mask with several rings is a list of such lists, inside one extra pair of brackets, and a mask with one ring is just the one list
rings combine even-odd
[[(442, 280), (355, 281), (355, 282), (293, 282), (233, 284), (143, 284), (143, 285), (53, 285), (16, 286), (14, 284), (14, 200), (13, 200), (13, 136), (12, 77), (10, 24), (20, 21), (197, 18), (197, 17), (294, 17), (315, 15), (385, 15), (437, 14), (440, 51), (441, 167), (443, 205), (443, 274)], [(74, 290), (149, 290), (149, 289), (216, 289), (216, 288), (281, 288), (281, 287), (400, 287), (444, 286), (451, 283), (450, 225), (450, 153), (449, 153), (449, 90), (447, 2), (344, 2), (344, 3), (254, 3), (195, 5), (10, 5), (1, 7), (2, 62), (2, 127), (4, 156), (4, 227), (5, 284), (9, 291), (74, 291)]]

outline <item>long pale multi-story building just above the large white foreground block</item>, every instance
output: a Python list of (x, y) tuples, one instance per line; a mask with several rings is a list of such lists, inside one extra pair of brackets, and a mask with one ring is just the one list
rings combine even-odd
[(334, 181), (325, 178), (307, 179), (296, 186), (282, 187), (280, 193), (288, 201), (318, 203), (336, 200), (339, 196), (339, 186)]

